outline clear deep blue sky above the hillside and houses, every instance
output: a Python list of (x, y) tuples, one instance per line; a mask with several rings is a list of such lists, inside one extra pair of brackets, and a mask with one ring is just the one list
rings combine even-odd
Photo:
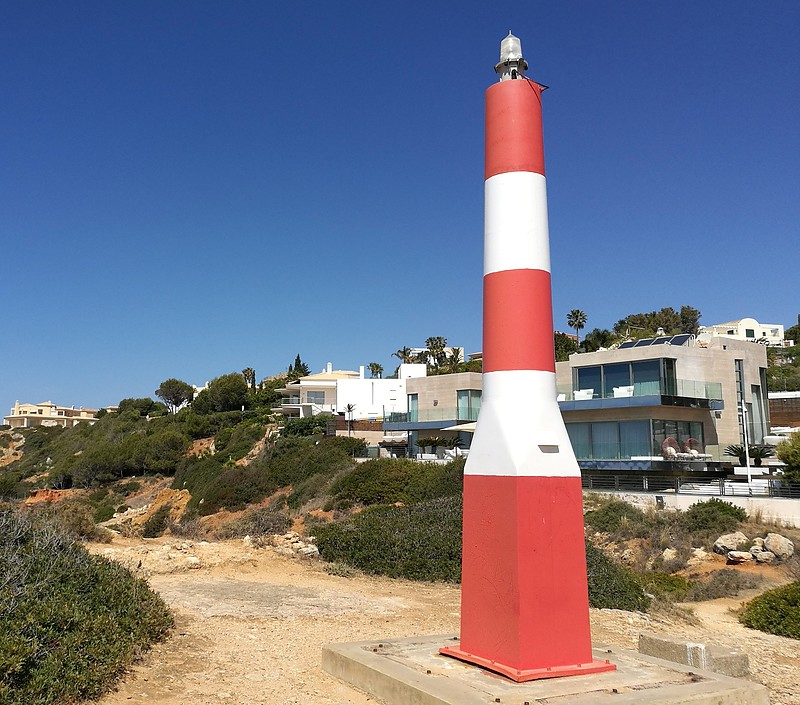
[(509, 29), (551, 87), (556, 326), (795, 323), (795, 0), (6, 3), (0, 415), (479, 350)]

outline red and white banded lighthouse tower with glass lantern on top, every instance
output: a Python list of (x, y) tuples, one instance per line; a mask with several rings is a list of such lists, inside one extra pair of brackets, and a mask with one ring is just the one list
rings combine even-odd
[(541, 97), (520, 41), (486, 91), (483, 399), (464, 470), (461, 640), (516, 681), (613, 670), (589, 631), (581, 477), (556, 401)]

